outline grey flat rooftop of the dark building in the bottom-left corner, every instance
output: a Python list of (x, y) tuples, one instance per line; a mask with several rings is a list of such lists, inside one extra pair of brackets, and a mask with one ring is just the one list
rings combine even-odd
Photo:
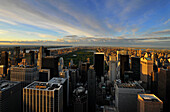
[(19, 82), (1, 80), (0, 81), (0, 91), (5, 91), (5, 90), (17, 85), (17, 84), (19, 84)]

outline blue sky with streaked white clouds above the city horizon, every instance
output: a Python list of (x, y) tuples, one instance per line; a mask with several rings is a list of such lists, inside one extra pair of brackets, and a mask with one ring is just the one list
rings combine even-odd
[(0, 0), (0, 45), (170, 48), (170, 1)]

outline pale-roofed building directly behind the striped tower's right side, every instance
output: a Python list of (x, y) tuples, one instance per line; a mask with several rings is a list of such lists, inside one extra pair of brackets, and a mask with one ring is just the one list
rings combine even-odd
[(69, 105), (69, 84), (66, 78), (53, 77), (48, 83), (59, 84), (63, 86), (63, 112), (67, 111)]

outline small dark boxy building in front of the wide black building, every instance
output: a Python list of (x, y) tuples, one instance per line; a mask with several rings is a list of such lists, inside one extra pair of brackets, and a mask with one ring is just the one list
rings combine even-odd
[(48, 82), (50, 80), (50, 69), (40, 69), (39, 70), (39, 81)]

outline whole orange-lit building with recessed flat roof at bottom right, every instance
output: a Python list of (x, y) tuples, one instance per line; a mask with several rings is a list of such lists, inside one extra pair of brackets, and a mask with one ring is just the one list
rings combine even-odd
[(154, 94), (138, 94), (137, 112), (162, 112), (163, 102)]

